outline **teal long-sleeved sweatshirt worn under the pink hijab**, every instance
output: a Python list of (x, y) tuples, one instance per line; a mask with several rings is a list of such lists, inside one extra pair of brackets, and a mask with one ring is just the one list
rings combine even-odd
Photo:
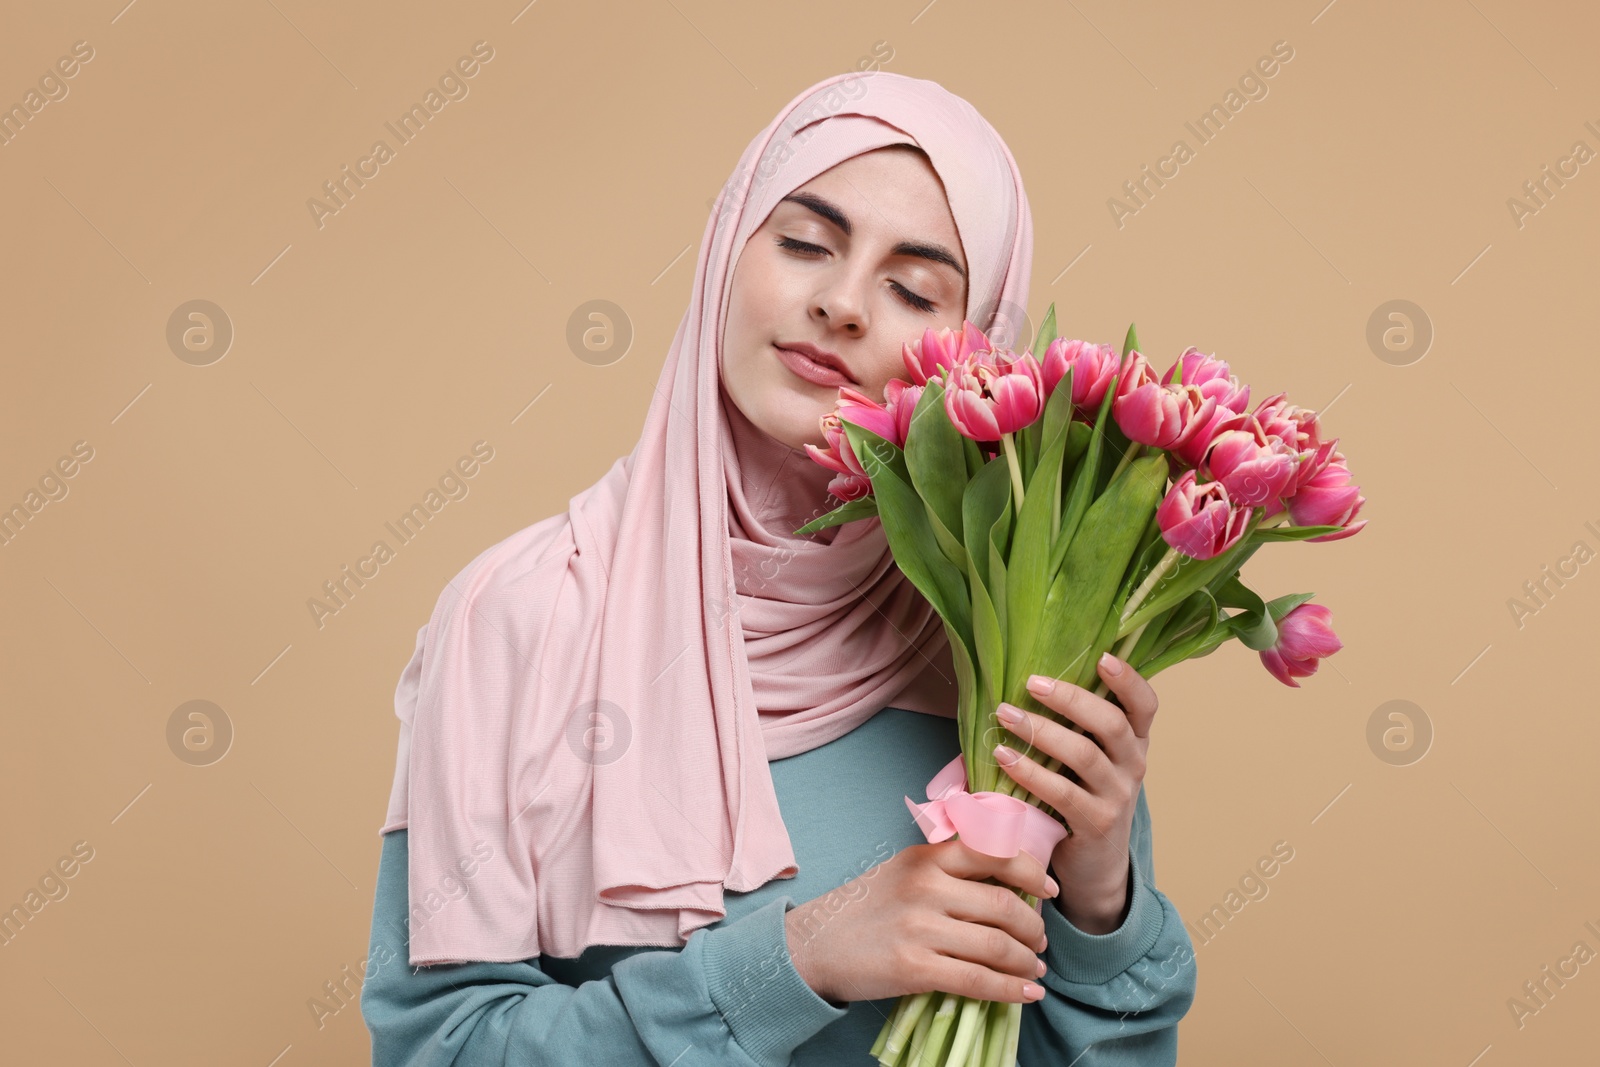
[[(362, 1016), (378, 1067), (872, 1067), (898, 998), (834, 1006), (800, 977), (784, 913), (926, 841), (904, 797), (960, 752), (955, 723), (886, 707), (829, 744), (770, 763), (794, 878), (725, 893), (726, 917), (678, 949), (592, 945), (578, 958), (413, 968), (406, 832), (382, 835)], [(1019, 1067), (1176, 1064), (1195, 957), (1157, 888), (1150, 809), (1139, 790), (1130, 838), (1133, 897), (1107, 934), (1051, 901), (1043, 1000), (1022, 1006)], [(1088, 1051), (1088, 1056), (1085, 1053)]]

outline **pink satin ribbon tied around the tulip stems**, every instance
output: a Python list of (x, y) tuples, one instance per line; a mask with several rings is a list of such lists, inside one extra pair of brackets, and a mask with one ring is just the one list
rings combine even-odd
[[(906, 798), (923, 837), (936, 845), (960, 835), (974, 851), (1010, 859), (1027, 853), (1050, 867), (1050, 856), (1067, 835), (1059, 819), (1026, 800), (990, 790), (966, 792), (966, 765), (960, 755), (928, 781), (928, 803)], [(1034, 910), (1043, 905), (1040, 899)]]

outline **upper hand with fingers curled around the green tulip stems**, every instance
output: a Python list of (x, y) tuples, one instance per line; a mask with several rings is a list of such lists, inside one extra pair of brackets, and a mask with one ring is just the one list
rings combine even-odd
[[(1072, 769), (1082, 785), (1061, 771), (1046, 771), (1043, 763), (1026, 755), (1018, 755), (1006, 766), (1010, 757), (995, 750), (1000, 768), (1072, 827), (1050, 859), (1050, 870), (1061, 885), (1054, 904), (1088, 934), (1107, 934), (1126, 917), (1131, 899), (1128, 838), (1157, 707), (1155, 689), (1123, 661), (1107, 653), (1098, 669), (1123, 707), (1070, 681), (1040, 675), (1029, 680), (1029, 691), (1040, 704), (1094, 734), (1094, 739), (1021, 709), (1016, 709), (1022, 717), (1019, 723), (1000, 720), (1018, 739), (1059, 760), (1062, 771)], [(1050, 688), (1051, 683), (1054, 688)], [(1002, 704), (1000, 709), (1011, 705)]]

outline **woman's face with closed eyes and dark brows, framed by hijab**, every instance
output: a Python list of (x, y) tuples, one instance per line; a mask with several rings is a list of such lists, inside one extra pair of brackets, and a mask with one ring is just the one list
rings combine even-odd
[[(739, 254), (723, 330), (722, 384), (739, 411), (790, 448), (824, 445), (840, 386), (882, 402), (906, 378), (901, 344), (960, 328), (966, 256), (928, 158), (877, 149), (784, 197)], [(814, 346), (845, 381), (808, 381), (779, 349)]]

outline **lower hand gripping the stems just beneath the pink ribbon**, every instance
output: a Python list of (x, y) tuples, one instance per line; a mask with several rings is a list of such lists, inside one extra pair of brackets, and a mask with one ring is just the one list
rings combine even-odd
[(1045, 920), (1016, 889), (1048, 899), (1051, 885), (1027, 853), (998, 859), (960, 838), (912, 845), (790, 909), (789, 955), (806, 985), (832, 1003), (928, 990), (1038, 1000)]

